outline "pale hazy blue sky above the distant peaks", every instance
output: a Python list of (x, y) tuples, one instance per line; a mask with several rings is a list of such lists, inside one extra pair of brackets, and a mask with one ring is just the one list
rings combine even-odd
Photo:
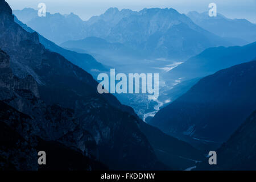
[(89, 19), (93, 15), (104, 13), (109, 7), (142, 10), (143, 8), (160, 7), (174, 8), (179, 13), (188, 11), (208, 11), (209, 3), (216, 3), (217, 13), (228, 18), (245, 18), (256, 23), (256, 0), (6, 0), (12, 9), (22, 10), (24, 7), (38, 9), (38, 4), (46, 3), (51, 14), (74, 13), (81, 19)]

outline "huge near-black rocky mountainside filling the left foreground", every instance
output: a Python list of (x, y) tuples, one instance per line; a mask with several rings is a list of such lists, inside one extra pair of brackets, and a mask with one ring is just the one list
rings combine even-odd
[[(89, 73), (15, 23), (3, 0), (0, 20), (1, 169), (184, 169), (202, 159), (201, 152), (147, 125), (112, 94), (98, 94)], [(39, 150), (49, 155), (48, 168), (38, 166)], [(174, 163), (164, 164), (168, 156)]]

